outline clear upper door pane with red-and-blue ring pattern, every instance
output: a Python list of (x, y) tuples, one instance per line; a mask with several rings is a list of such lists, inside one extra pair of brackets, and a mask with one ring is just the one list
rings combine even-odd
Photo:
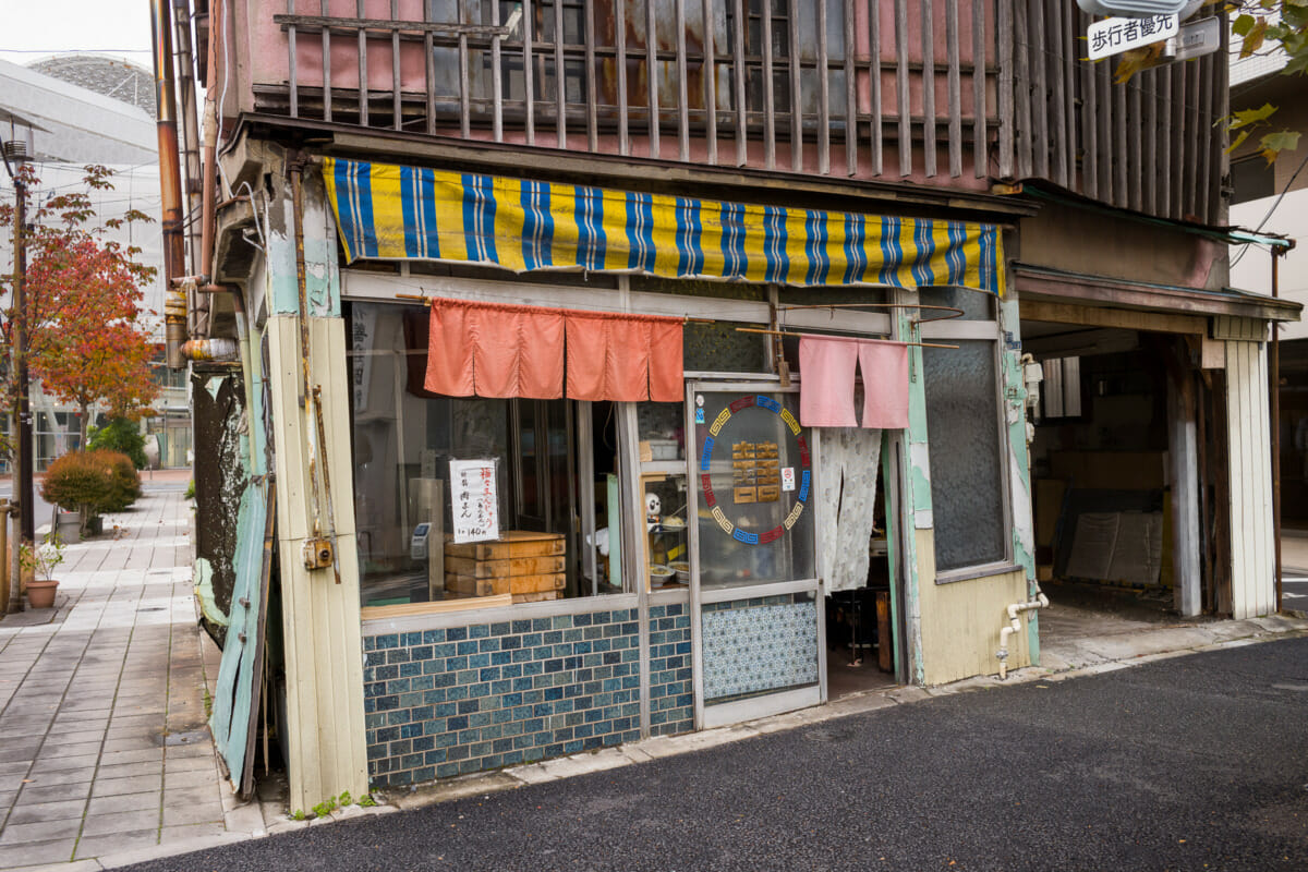
[(812, 464), (799, 396), (702, 391), (695, 401), (700, 582), (814, 578)]

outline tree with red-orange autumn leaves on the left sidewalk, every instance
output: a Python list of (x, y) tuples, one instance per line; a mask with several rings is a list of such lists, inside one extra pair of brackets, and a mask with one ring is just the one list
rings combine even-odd
[[(29, 190), (39, 187), (33, 167), (20, 169)], [(141, 323), (141, 285), (153, 267), (137, 263), (140, 248), (123, 246), (105, 234), (131, 221), (149, 221), (131, 210), (122, 218), (93, 225), (97, 218), (90, 191), (111, 190), (112, 171), (88, 166), (85, 190), (59, 193), (37, 207), (25, 231), (27, 269), (27, 361), (44, 390), (81, 412), (81, 444), (86, 444), (89, 411), (103, 403), (115, 416), (140, 413), (158, 395), (150, 378), (153, 345)], [(0, 208), (0, 226), (13, 225), (13, 207)], [(10, 276), (0, 276), (0, 290)], [(7, 293), (8, 295), (8, 293)], [(12, 343), (16, 316), (12, 295), (3, 311), (3, 333)], [(17, 397), (16, 375), (5, 379), (7, 405)]]

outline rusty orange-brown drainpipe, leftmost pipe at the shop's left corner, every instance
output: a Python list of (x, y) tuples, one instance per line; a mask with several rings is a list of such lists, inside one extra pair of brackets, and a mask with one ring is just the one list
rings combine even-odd
[(154, 105), (158, 111), (160, 195), (164, 203), (164, 339), (169, 369), (186, 366), (182, 343), (186, 341), (186, 294), (173, 288), (173, 280), (184, 276), (186, 222), (182, 214), (181, 154), (177, 143), (177, 94), (173, 86), (173, 27), (169, 0), (150, 0), (150, 30), (154, 35)]

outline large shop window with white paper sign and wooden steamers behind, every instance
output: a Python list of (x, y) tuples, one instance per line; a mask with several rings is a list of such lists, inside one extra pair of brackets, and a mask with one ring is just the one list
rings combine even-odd
[[(426, 319), (349, 306), (362, 604), (620, 592), (613, 404), (430, 394)], [(492, 520), (498, 539), (454, 541)]]

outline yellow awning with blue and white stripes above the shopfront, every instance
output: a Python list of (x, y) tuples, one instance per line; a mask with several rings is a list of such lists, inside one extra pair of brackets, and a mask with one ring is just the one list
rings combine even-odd
[(349, 263), (445, 260), (1003, 295), (999, 227), (323, 159)]

